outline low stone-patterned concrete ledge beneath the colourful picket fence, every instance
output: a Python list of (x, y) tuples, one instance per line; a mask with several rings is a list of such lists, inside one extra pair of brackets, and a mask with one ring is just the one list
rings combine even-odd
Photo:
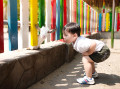
[[(97, 37), (97, 33), (89, 37)], [(93, 36), (93, 37), (92, 37)], [(40, 50), (15, 50), (0, 54), (0, 89), (26, 89), (73, 60), (71, 44), (50, 42)]]

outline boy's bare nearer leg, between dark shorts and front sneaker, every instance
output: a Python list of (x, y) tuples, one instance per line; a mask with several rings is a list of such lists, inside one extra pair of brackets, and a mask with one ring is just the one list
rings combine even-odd
[(92, 72), (95, 71), (95, 67), (94, 67), (94, 61), (90, 59), (89, 56), (83, 56), (83, 64), (84, 64), (84, 69), (85, 69), (85, 72), (86, 72), (86, 76), (88, 78), (92, 78)]

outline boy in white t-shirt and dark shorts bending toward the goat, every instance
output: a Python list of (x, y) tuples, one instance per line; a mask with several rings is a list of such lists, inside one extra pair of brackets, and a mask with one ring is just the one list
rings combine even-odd
[(83, 55), (85, 69), (84, 77), (77, 79), (80, 84), (95, 84), (94, 78), (98, 77), (94, 62), (102, 62), (110, 55), (109, 48), (99, 40), (88, 39), (80, 36), (80, 26), (76, 23), (68, 23), (63, 28), (63, 39), (66, 43), (72, 43), (73, 48)]

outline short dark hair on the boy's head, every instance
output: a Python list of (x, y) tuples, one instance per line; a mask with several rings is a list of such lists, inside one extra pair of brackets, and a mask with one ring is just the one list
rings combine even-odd
[(81, 29), (77, 23), (74, 23), (74, 22), (68, 23), (63, 27), (63, 30), (64, 31), (68, 30), (70, 33), (72, 33), (72, 34), (76, 33), (78, 36), (80, 36)]

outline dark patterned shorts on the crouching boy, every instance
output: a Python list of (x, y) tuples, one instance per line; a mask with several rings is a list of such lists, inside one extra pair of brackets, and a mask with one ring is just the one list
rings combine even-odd
[(109, 56), (110, 50), (106, 45), (103, 46), (103, 48), (100, 51), (94, 52), (93, 54), (89, 55), (89, 57), (96, 63), (105, 61)]

